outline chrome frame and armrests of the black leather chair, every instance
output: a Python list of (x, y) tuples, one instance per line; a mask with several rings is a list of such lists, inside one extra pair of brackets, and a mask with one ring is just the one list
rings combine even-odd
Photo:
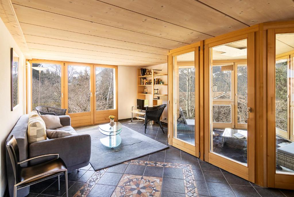
[[(47, 156), (57, 156), (57, 158), (59, 158), (59, 154), (40, 155), (40, 156), (36, 156), (36, 157), (33, 157), (33, 158), (26, 159), (24, 161), (18, 162), (18, 164), (25, 163), (25, 162), (28, 162), (28, 161), (31, 161), (31, 160), (34, 160), (34, 159), (37, 159), (37, 158), (41, 158), (41, 157), (47, 157)], [(27, 181), (30, 181), (30, 180), (32, 180), (34, 178), (37, 178), (37, 177), (40, 177), (40, 176), (44, 176), (44, 175), (47, 175), (47, 174), (51, 174), (51, 173), (57, 173), (57, 172), (60, 172), (60, 173), (58, 175), (49, 176), (47, 178), (44, 178), (44, 179), (42, 179), (40, 181), (34, 182), (34, 183), (29, 184), (27, 186), (31, 186), (31, 185), (34, 185), (34, 184), (39, 183), (41, 181), (45, 181), (47, 179), (50, 179), (50, 178), (53, 178), (53, 177), (58, 176), (58, 191), (60, 191), (60, 175), (64, 173), (64, 176), (65, 176), (65, 187), (66, 187), (66, 197), (68, 197), (67, 169), (65, 169), (65, 170), (55, 170), (55, 171), (45, 172), (45, 173), (42, 173), (42, 174), (33, 176), (31, 178), (28, 178), (28, 179), (26, 179), (24, 181), (21, 181), (21, 182), (17, 183), (17, 184), (16, 184), (16, 180), (15, 180), (15, 184), (14, 184), (14, 197), (17, 197), (17, 190), (18, 189), (27, 187), (27, 186), (24, 186), (24, 187), (17, 188), (18, 186), (20, 186), (20, 185), (22, 185), (22, 184), (26, 183)]]

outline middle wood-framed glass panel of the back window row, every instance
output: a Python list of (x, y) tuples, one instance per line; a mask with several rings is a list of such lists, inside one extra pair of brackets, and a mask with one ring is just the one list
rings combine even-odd
[(93, 124), (93, 65), (65, 65), (65, 104), (71, 116), (71, 126)]

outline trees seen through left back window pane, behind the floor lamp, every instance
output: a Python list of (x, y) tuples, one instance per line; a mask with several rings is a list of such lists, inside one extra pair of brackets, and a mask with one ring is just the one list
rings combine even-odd
[[(32, 64), (33, 67), (48, 68), (41, 71), (40, 105), (61, 107), (61, 65), (60, 64)], [(39, 71), (32, 69), (32, 107), (38, 106), (39, 99)]]

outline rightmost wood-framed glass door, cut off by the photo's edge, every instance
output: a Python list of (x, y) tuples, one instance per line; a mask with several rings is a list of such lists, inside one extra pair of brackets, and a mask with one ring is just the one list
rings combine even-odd
[(268, 186), (294, 187), (294, 28), (268, 30)]

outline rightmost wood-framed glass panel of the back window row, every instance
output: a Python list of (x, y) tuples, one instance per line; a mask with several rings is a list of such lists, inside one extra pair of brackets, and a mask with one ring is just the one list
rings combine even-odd
[(117, 67), (94, 65), (95, 81), (95, 124), (109, 121), (108, 116), (117, 117)]

